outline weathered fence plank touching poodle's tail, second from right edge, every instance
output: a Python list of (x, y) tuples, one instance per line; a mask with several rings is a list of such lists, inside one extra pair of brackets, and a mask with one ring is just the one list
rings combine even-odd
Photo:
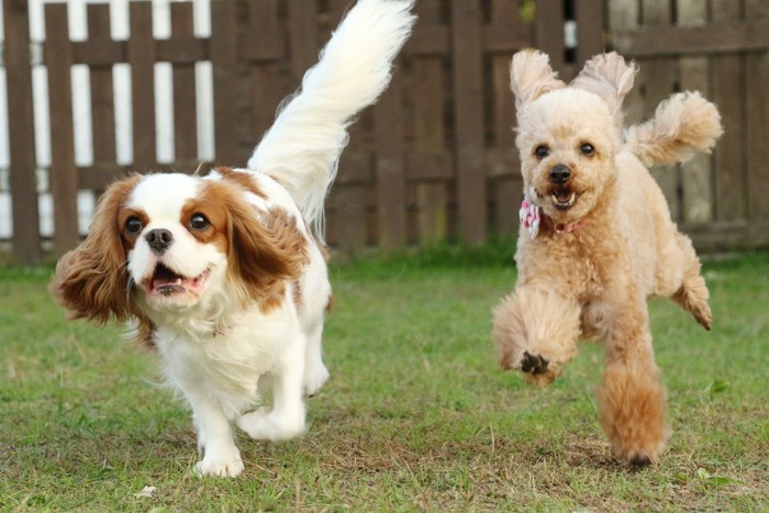
[[(713, 0), (713, 20), (734, 21), (740, 18), (740, 5), (732, 0)], [(721, 111), (724, 136), (715, 150), (717, 169), (715, 181), (715, 214), (721, 221), (734, 221), (747, 218), (747, 181), (745, 180), (745, 161), (743, 141), (745, 124), (744, 69), (738, 55), (715, 56), (711, 60), (713, 69), (713, 100)]]

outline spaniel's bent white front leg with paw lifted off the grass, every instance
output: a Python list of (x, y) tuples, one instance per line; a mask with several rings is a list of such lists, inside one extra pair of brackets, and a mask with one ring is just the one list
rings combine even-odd
[(292, 344), (272, 376), (272, 408), (260, 408), (237, 419), (237, 426), (255, 439), (287, 440), (304, 432), (304, 352), (307, 339)]

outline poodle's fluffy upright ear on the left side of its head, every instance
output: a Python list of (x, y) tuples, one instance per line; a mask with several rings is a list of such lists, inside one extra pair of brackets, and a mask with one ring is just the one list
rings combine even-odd
[(523, 107), (554, 89), (566, 87), (550, 67), (547, 54), (524, 49), (513, 55), (510, 63), (510, 89), (515, 94), (515, 108)]

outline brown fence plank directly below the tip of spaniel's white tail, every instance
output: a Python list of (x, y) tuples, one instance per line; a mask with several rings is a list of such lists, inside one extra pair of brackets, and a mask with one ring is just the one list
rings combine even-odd
[(377, 242), (383, 253), (405, 245), (406, 183), (403, 149), (401, 80), (393, 74), (388, 89), (375, 105), (377, 153)]

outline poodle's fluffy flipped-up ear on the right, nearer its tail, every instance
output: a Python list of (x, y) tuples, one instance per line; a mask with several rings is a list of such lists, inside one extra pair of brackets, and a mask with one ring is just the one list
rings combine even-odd
[(612, 52), (597, 55), (587, 63), (569, 86), (593, 92), (609, 104), (616, 126), (622, 129), (623, 112), (622, 101), (633, 89), (638, 66), (634, 62), (625, 63), (625, 59)]

